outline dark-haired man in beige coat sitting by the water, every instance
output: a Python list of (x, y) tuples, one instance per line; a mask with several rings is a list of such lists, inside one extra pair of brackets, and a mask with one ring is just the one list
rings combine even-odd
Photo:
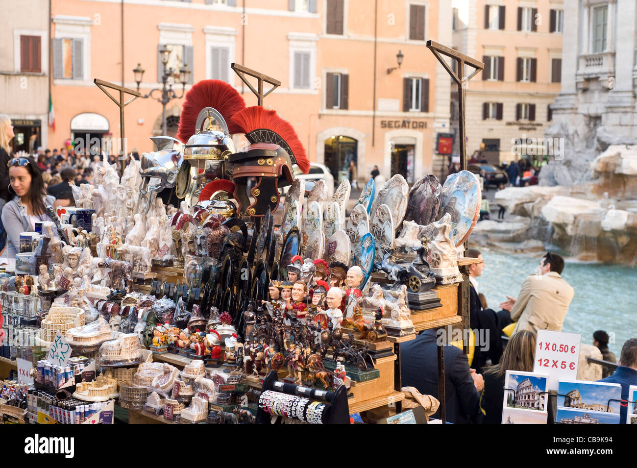
[(522, 284), (517, 299), (506, 296), (508, 301), (500, 307), (510, 311), (511, 320), (517, 325), (513, 333), (519, 330), (562, 331), (562, 323), (573, 300), (575, 290), (560, 274), (564, 270), (564, 259), (555, 253), (547, 252), (542, 257), (540, 274), (532, 274)]

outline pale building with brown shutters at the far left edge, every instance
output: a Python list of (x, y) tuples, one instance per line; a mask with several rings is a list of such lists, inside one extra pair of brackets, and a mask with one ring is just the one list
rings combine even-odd
[(11, 118), (13, 150), (48, 144), (48, 1), (3, 2), (0, 114)]

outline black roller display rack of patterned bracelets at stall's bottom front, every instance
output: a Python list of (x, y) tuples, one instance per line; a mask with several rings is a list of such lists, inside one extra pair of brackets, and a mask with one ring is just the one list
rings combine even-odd
[[(289, 414), (288, 411), (277, 410), (268, 396), (274, 400), (289, 402), (294, 408), (290, 409)], [(310, 408), (322, 408), (323, 411), (318, 416), (310, 415)], [(326, 392), (293, 383), (283, 383), (277, 380), (276, 371), (272, 371), (263, 381), (255, 423), (270, 424), (274, 415), (278, 416), (275, 421), (278, 424), (282, 423), (285, 417), (319, 424), (349, 424), (347, 389), (340, 385), (336, 392)]]

